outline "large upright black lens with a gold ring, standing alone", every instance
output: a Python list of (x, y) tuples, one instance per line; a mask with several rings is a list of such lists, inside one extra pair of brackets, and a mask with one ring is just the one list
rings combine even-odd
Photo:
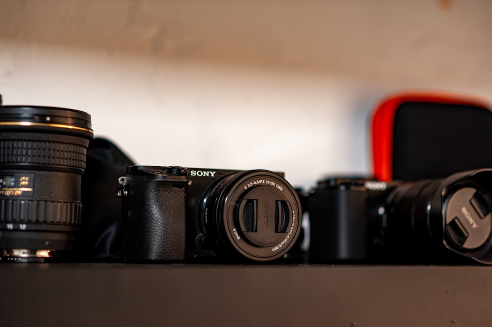
[(82, 111), (0, 107), (0, 261), (42, 262), (73, 249), (92, 137)]

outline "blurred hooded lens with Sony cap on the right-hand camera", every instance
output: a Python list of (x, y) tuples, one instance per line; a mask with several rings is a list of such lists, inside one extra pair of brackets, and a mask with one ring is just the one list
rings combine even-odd
[[(452, 253), (492, 263), (492, 170), (402, 184), (390, 195), (388, 239), (431, 253), (438, 242)], [(419, 240), (419, 244), (411, 239)], [(431, 243), (425, 240), (431, 240)], [(426, 248), (427, 247), (427, 248)]]

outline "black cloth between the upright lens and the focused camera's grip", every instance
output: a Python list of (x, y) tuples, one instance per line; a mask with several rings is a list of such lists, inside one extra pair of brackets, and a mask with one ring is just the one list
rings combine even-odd
[(113, 142), (94, 138), (89, 144), (82, 177), (83, 221), (76, 246), (83, 261), (122, 260), (122, 205), (116, 189), (129, 165), (133, 161)]

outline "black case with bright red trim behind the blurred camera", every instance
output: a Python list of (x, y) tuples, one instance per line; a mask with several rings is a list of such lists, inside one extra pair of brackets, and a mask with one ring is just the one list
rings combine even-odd
[(378, 180), (442, 178), (492, 167), (492, 112), (477, 99), (400, 93), (376, 107), (371, 129)]

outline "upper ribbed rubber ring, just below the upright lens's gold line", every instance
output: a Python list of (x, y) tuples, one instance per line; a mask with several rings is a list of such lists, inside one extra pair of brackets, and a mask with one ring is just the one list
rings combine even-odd
[(0, 163), (86, 168), (87, 149), (68, 143), (0, 141)]

